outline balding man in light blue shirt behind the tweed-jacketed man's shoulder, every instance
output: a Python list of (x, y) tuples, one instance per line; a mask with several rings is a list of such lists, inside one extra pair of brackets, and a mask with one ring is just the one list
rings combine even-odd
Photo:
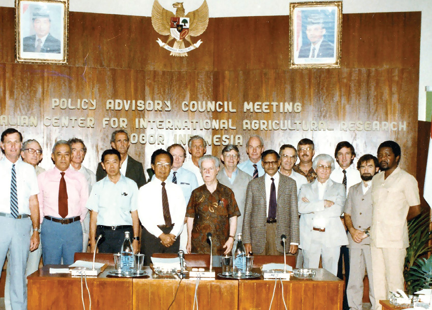
[(264, 141), (258, 135), (253, 135), (249, 138), (246, 144), (246, 153), (248, 154), (248, 160), (238, 165), (238, 168), (251, 175), (252, 178), (256, 179), (259, 176), (264, 175), (264, 169), (260, 164), (261, 154), (264, 150)]

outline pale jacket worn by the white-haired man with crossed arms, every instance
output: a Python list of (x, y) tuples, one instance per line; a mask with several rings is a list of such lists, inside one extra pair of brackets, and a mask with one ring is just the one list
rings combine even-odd
[[(325, 223), (323, 246), (333, 247), (348, 244), (345, 229), (343, 228), (340, 215), (345, 204), (345, 187), (329, 178), (323, 199), (331, 200), (335, 204), (329, 208), (324, 207), (323, 200), (318, 200), (318, 180), (313, 183), (303, 184), (299, 192), (300, 216), (300, 248), (311, 250), (311, 241), (316, 231), (312, 230), (313, 220), (321, 219)], [(309, 202), (304, 202), (306, 197)]]

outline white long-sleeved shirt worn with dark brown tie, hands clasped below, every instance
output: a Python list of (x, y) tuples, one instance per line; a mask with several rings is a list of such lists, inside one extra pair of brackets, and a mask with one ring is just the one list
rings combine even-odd
[[(159, 237), (163, 233), (157, 225), (165, 225), (161, 183), (161, 180), (154, 178), (151, 182), (143, 185), (138, 193), (138, 215), (141, 223), (155, 237)], [(170, 205), (171, 221), (174, 224), (170, 233), (177, 237), (183, 230), (186, 202), (179, 185), (167, 181), (165, 182), (165, 189)]]

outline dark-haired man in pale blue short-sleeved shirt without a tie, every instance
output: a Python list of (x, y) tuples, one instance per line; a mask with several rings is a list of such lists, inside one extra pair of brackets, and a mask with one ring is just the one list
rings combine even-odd
[(140, 241), (140, 221), (138, 219), (137, 183), (120, 173), (120, 153), (116, 149), (107, 149), (102, 153), (102, 167), (106, 176), (98, 181), (90, 193), (87, 208), (90, 216), (91, 252), (119, 253), (126, 231), (133, 233), (133, 251), (138, 253)]

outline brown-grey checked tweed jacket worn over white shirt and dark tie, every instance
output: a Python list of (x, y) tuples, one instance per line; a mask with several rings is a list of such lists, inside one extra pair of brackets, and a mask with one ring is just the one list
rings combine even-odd
[[(252, 243), (252, 251), (255, 253), (264, 251), (266, 240), (265, 224), (267, 219), (267, 203), (264, 177), (265, 174), (251, 180), (246, 191), (242, 239), (244, 243)], [(300, 232), (295, 181), (280, 173), (277, 202), (276, 249), (283, 253), (280, 236), (285, 234), (288, 244), (299, 243)]]

